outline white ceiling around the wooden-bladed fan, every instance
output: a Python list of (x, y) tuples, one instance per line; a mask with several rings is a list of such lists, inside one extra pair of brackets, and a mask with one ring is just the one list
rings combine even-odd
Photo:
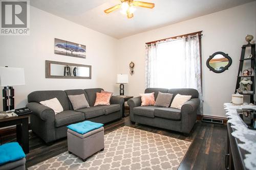
[(140, 0), (155, 3), (154, 9), (136, 7), (134, 17), (127, 19), (120, 10), (103, 11), (120, 0), (32, 0), (30, 5), (71, 20), (95, 31), (123, 38), (172, 23), (214, 13), (254, 0)]

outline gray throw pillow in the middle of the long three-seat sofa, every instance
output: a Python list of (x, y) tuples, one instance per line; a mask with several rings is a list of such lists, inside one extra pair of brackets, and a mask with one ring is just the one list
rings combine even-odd
[(90, 107), (84, 94), (68, 95), (74, 110)]

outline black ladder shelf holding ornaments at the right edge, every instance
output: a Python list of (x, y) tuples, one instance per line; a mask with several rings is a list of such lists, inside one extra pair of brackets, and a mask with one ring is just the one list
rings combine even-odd
[[(244, 58), (245, 57), (245, 50), (246, 47), (251, 47), (251, 58)], [(242, 72), (243, 74), (243, 65), (244, 65), (244, 61), (251, 61), (251, 68), (253, 68), (254, 74), (250, 75), (250, 76), (241, 76), (240, 72)], [(253, 93), (240, 93), (240, 94), (244, 94), (244, 95), (250, 95), (250, 103), (254, 103), (253, 102), (253, 94), (254, 94), (254, 75), (255, 75), (255, 44), (246, 44), (242, 46), (242, 52), (241, 52), (241, 57), (240, 57), (240, 64), (239, 64), (239, 69), (238, 69), (238, 77), (237, 77), (237, 85), (236, 85), (236, 89), (234, 90), (234, 93), (237, 92), (237, 89), (240, 88), (240, 81), (241, 78), (250, 78), (250, 80), (253, 82), (253, 84), (250, 86), (250, 90), (253, 91)]]

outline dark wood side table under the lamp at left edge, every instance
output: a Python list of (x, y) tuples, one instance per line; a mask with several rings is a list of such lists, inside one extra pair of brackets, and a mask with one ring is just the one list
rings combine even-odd
[(0, 128), (16, 125), (16, 140), (29, 153), (29, 114), (0, 118)]

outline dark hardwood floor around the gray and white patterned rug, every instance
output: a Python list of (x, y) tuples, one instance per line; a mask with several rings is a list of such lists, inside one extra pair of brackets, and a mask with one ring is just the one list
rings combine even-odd
[[(227, 129), (226, 125), (197, 122), (189, 136), (182, 133), (145, 126), (132, 125), (130, 117), (122, 118), (113, 123), (106, 124), (105, 134), (122, 126), (130, 126), (141, 130), (158, 133), (182, 140), (191, 141), (191, 145), (180, 164), (179, 169), (225, 169), (225, 153)], [(27, 154), (26, 166), (30, 167), (41, 161), (59, 155), (68, 150), (67, 138), (59, 139), (52, 145), (47, 146), (44, 141), (30, 132), (30, 153)], [(15, 141), (15, 134), (2, 136), (3, 143)]]

